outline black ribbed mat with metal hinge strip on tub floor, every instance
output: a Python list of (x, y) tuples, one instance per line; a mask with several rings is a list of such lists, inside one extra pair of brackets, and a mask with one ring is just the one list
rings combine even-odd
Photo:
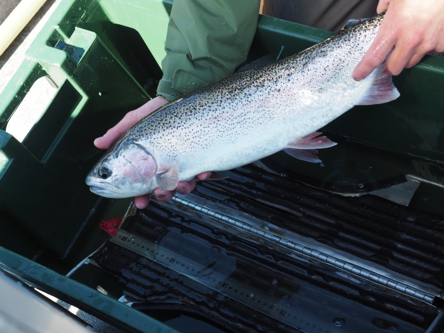
[[(93, 259), (124, 281), (131, 306), (189, 313), (233, 332), (437, 329), (440, 216), (373, 195), (331, 194), (252, 165), (227, 174), (168, 203), (152, 200), (121, 230), (169, 251), (157, 254), (177, 254), (178, 267), (199, 263), (230, 283), (219, 281), (218, 292), (109, 241)], [(248, 295), (236, 301), (224, 283)]]

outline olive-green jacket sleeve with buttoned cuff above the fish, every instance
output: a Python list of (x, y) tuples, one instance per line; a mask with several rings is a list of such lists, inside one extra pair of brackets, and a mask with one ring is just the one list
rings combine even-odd
[(260, 0), (175, 0), (157, 95), (174, 100), (219, 81), (245, 61)]

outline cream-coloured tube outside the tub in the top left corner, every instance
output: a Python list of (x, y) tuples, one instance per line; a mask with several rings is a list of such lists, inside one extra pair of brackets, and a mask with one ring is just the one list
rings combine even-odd
[(22, 0), (0, 26), (0, 55), (38, 12), (46, 0)]

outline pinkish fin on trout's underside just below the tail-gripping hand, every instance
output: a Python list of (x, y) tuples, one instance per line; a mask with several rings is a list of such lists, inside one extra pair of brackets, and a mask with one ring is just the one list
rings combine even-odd
[(363, 84), (363, 90), (356, 96), (355, 105), (382, 104), (399, 97), (399, 91), (392, 82), (392, 74), (385, 64), (378, 66), (367, 80), (371, 81), (370, 86)]

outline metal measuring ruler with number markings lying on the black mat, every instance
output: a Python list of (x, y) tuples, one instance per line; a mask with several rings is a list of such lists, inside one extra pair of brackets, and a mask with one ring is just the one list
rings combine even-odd
[(304, 312), (301, 308), (291, 306), (291, 299), (287, 297), (281, 300), (274, 299), (233, 278), (227, 278), (226, 275), (218, 273), (215, 269), (191, 261), (178, 253), (165, 249), (125, 230), (119, 230), (111, 238), (111, 242), (138, 253), (183, 276), (191, 278), (222, 295), (250, 306), (301, 332), (346, 332), (343, 328), (340, 328), (342, 324), (340, 318), (335, 318), (333, 322), (324, 321)]

